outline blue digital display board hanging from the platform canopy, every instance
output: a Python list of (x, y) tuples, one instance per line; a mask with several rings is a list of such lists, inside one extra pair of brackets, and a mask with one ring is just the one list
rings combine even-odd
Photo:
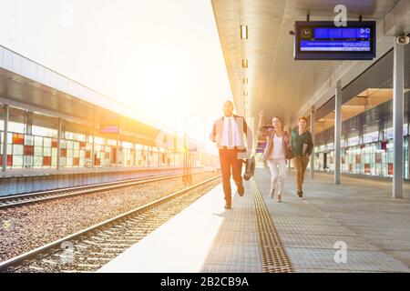
[(375, 22), (297, 21), (295, 60), (371, 60), (375, 57)]

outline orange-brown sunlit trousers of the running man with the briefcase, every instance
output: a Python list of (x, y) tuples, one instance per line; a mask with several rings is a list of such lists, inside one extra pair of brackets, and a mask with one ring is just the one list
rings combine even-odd
[(238, 158), (238, 150), (220, 149), (220, 170), (225, 200), (231, 205), (231, 173), (237, 186), (242, 183), (242, 160)]

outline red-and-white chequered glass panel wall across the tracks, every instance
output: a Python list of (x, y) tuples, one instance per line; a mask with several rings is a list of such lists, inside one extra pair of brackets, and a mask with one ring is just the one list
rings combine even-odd
[[(0, 109), (0, 158), (3, 155), (4, 120)], [(56, 168), (57, 130), (9, 121), (7, 168)], [(63, 126), (64, 129), (64, 126)], [(28, 134), (30, 133), (30, 134)], [(119, 143), (119, 146), (118, 144)], [(117, 149), (118, 146), (118, 149)], [(60, 167), (182, 166), (182, 154), (166, 148), (117, 142), (103, 136), (63, 131), (60, 140)]]

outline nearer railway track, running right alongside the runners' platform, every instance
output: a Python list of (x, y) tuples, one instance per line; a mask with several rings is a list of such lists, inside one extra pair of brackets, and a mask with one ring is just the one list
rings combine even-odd
[[(93, 272), (178, 214), (220, 175), (0, 263), (0, 272)], [(219, 183), (219, 182), (218, 182)]]

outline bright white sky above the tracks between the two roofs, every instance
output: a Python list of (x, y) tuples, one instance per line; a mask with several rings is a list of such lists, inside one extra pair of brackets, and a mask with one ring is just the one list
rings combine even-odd
[(231, 99), (210, 0), (0, 0), (0, 45), (132, 107), (208, 134)]

